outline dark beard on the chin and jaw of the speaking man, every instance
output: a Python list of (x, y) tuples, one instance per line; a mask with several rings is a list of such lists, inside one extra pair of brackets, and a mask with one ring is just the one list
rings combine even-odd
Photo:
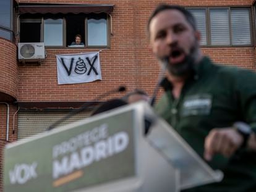
[[(197, 56), (198, 47), (195, 44), (184, 58), (184, 61), (177, 64), (167, 65), (167, 70), (175, 77), (184, 77), (190, 75), (194, 71), (195, 60)], [(163, 59), (161, 59), (163, 60)]]

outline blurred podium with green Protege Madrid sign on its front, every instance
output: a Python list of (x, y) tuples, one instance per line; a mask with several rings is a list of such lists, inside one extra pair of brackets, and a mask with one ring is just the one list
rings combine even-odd
[(4, 191), (176, 192), (222, 178), (145, 102), (4, 150)]

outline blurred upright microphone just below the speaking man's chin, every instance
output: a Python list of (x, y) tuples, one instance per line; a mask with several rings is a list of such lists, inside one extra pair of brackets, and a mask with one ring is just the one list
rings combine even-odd
[(153, 95), (150, 99), (150, 106), (153, 106), (155, 104), (156, 101), (156, 94), (158, 93), (158, 90), (160, 88), (161, 82), (164, 79), (164, 72), (169, 64), (169, 57), (165, 56), (161, 59), (162, 65), (161, 65), (161, 70), (160, 73), (158, 74), (158, 81), (156, 83), (155, 89), (153, 91)]

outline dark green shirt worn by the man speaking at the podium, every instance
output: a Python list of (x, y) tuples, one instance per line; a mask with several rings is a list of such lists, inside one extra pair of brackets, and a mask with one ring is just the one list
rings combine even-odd
[[(256, 130), (256, 74), (203, 57), (179, 99), (173, 98), (170, 84), (155, 109), (203, 157), (211, 129), (242, 121)], [(223, 181), (186, 191), (256, 191), (256, 153), (241, 149), (229, 159), (216, 155), (208, 164), (224, 172)]]

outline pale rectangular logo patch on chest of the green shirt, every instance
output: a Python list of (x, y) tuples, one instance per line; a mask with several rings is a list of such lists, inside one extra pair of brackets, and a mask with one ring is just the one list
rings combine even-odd
[(210, 94), (205, 93), (187, 96), (182, 104), (181, 115), (209, 115), (211, 104), (212, 96)]

